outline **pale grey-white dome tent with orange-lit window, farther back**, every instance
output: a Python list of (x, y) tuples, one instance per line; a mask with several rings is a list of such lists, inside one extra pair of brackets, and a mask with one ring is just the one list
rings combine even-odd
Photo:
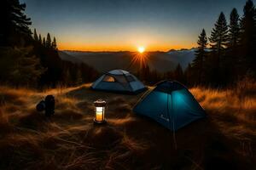
[(127, 94), (137, 94), (147, 89), (137, 77), (124, 70), (108, 71), (93, 82), (91, 88)]

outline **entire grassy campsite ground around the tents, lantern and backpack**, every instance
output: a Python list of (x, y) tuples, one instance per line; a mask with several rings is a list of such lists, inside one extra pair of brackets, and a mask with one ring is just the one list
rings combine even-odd
[[(132, 113), (143, 94), (91, 91), (89, 84), (35, 92), (0, 87), (0, 169), (253, 169), (255, 84), (232, 90), (192, 88), (207, 118), (172, 133)], [(55, 116), (35, 111), (54, 94)], [(93, 124), (96, 99), (108, 124)]]

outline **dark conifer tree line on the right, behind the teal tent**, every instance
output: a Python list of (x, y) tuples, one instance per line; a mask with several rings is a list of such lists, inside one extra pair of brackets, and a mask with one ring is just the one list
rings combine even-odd
[(242, 16), (233, 8), (229, 22), (221, 12), (210, 37), (202, 29), (197, 44), (195, 59), (184, 71), (177, 65), (174, 71), (162, 74), (144, 65), (137, 71), (137, 77), (149, 84), (172, 79), (188, 86), (212, 87), (232, 86), (245, 77), (255, 80), (256, 8), (253, 1), (247, 0)]

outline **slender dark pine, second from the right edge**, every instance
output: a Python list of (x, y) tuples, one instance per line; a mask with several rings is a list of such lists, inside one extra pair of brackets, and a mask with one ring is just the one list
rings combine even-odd
[(228, 40), (228, 47), (229, 48), (236, 48), (239, 42), (239, 14), (237, 13), (236, 8), (230, 13), (230, 30), (229, 30), (229, 40)]

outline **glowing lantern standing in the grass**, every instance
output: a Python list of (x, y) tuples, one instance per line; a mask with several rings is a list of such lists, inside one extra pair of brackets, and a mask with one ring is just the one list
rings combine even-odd
[(95, 118), (94, 118), (94, 122), (98, 123), (98, 124), (102, 124), (105, 123), (105, 109), (106, 109), (106, 101), (102, 100), (102, 99), (97, 99), (94, 102), (94, 105), (96, 107), (96, 113), (95, 113)]

